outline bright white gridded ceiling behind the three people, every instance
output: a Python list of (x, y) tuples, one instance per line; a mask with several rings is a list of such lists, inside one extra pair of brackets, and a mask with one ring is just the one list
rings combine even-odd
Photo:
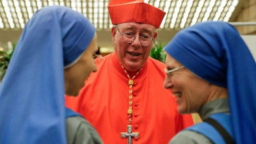
[[(166, 12), (159, 28), (159, 35), (173, 36), (177, 31), (196, 22), (205, 20), (233, 21), (243, 5), (242, 0), (144, 0)], [(0, 42), (6, 36), (17, 39), (26, 22), (36, 10), (43, 6), (58, 4), (81, 12), (88, 17), (97, 28), (99, 46), (111, 44), (110, 28), (112, 27), (108, 13), (109, 0), (1, 0), (0, 1)], [(106, 34), (105, 34), (106, 33)], [(169, 36), (169, 37), (170, 37)], [(101, 40), (106, 38), (106, 40)], [(161, 37), (158, 38), (162, 40)], [(106, 42), (105, 42), (106, 41)], [(163, 40), (164, 41), (164, 40)], [(100, 42), (105, 42), (100, 44)], [(105, 45), (106, 44), (106, 45)]]

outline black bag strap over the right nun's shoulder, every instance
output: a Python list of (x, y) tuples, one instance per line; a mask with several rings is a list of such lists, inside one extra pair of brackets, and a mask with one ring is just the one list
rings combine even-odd
[(208, 124), (212, 125), (212, 127), (214, 127), (220, 133), (223, 140), (227, 144), (235, 144), (235, 141), (230, 136), (230, 134), (228, 134), (226, 129), (224, 129), (224, 127), (221, 124), (219, 124), (216, 120), (214, 120), (213, 118), (207, 118), (206, 120), (204, 120), (204, 122), (207, 122)]

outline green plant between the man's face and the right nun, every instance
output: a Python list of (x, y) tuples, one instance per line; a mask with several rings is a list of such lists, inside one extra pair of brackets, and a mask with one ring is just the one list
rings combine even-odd
[(157, 41), (154, 41), (154, 46), (153, 46), (149, 56), (151, 58), (154, 58), (154, 59), (159, 60), (164, 63), (166, 53), (164, 52), (163, 49), (164, 49), (164, 45), (162, 45), (161, 43), (159, 43)]

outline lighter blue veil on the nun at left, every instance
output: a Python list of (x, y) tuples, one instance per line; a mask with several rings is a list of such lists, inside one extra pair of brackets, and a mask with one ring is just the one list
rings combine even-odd
[(64, 68), (94, 35), (92, 23), (65, 6), (33, 15), (0, 85), (0, 143), (67, 143)]

